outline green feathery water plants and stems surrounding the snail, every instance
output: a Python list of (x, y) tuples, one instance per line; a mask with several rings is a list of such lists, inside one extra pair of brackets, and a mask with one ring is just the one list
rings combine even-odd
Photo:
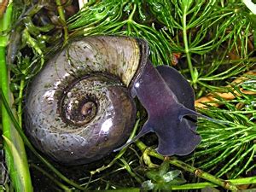
[[(236, 0), (95, 0), (67, 18), (70, 3), (73, 1), (9, 1), (0, 18), (0, 141), (4, 140), (0, 149), (5, 151), (10, 174), (10, 181), (0, 183), (0, 190), (30, 191), (38, 184), (31, 183), (30, 177), (37, 174), (43, 184), (51, 181), (50, 189), (67, 191), (131, 191), (142, 186), (236, 190), (238, 185), (256, 183), (254, 7)], [(196, 98), (212, 93), (215, 100), (198, 110), (226, 124), (199, 119), (202, 142), (195, 153), (185, 157), (164, 159), (154, 151), (155, 137), (147, 135), (119, 154), (69, 171), (46, 160), (22, 131), (26, 85), (68, 41), (100, 34), (146, 39), (154, 65), (176, 67), (195, 89)], [(234, 82), (241, 76), (244, 79)], [(227, 99), (221, 93), (231, 96)], [(131, 137), (145, 120), (145, 113), (139, 110)]]

